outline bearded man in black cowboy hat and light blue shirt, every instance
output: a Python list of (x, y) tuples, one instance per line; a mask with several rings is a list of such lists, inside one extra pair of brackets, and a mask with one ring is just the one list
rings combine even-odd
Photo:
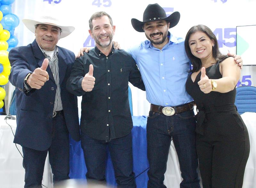
[[(147, 121), (148, 187), (162, 188), (171, 140), (176, 148), (183, 181), (180, 187), (199, 188), (195, 145), (196, 122), (193, 98), (185, 83), (189, 59), (184, 40), (168, 30), (178, 24), (180, 13), (166, 16), (159, 4), (149, 4), (143, 21), (132, 19), (138, 32), (145, 32), (148, 40), (128, 52), (136, 60), (151, 103)], [(238, 59), (238, 63), (242, 60)]]

